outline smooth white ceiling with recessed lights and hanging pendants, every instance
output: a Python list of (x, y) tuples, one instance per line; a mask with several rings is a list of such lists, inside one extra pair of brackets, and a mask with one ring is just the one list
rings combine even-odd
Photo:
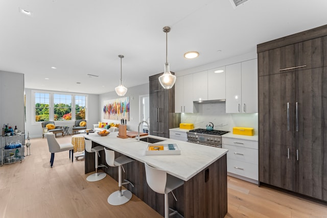
[[(0, 70), (24, 74), (25, 88), (101, 94), (119, 85), (118, 55), (126, 87), (164, 70), (165, 26), (177, 72), (325, 25), (326, 9), (325, 0), (249, 0), (236, 8), (230, 0), (0, 0)], [(187, 60), (188, 51), (200, 56)]]

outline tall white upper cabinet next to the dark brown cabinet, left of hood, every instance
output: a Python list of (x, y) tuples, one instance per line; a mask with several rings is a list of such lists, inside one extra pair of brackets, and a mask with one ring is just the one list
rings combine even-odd
[(177, 77), (175, 82), (175, 113), (193, 113), (193, 74)]

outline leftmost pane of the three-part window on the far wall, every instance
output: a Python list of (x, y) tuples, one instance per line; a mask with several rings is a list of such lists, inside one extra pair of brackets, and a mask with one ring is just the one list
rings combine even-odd
[(35, 122), (49, 120), (49, 93), (35, 93)]

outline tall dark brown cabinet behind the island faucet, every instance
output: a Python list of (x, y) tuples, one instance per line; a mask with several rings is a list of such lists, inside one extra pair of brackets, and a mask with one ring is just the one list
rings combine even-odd
[(157, 74), (149, 77), (150, 87), (150, 135), (169, 138), (169, 129), (180, 124), (180, 113), (175, 111), (175, 86), (164, 89)]

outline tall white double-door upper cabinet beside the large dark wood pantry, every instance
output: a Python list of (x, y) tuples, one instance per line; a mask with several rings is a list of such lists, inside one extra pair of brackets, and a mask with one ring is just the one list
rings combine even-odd
[(226, 66), (226, 113), (258, 113), (257, 59)]

